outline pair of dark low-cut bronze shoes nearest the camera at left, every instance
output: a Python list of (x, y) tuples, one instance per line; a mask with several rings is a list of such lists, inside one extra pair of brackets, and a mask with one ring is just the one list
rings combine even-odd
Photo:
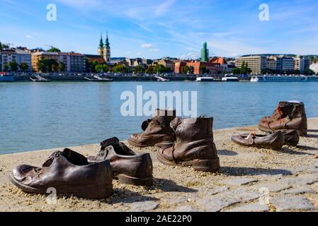
[(25, 192), (73, 194), (81, 198), (108, 198), (113, 194), (113, 178), (119, 182), (152, 186), (152, 159), (137, 155), (118, 138), (101, 143), (97, 156), (86, 158), (68, 148), (52, 153), (42, 167), (19, 165), (10, 174), (13, 184)]

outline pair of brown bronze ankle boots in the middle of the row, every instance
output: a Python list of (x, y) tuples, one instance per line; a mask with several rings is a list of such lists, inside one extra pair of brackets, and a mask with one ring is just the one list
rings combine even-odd
[(157, 109), (152, 119), (142, 123), (144, 132), (132, 134), (128, 143), (140, 148), (159, 146), (157, 159), (165, 165), (214, 172), (220, 169), (220, 159), (212, 124), (212, 117), (181, 119), (174, 109)]

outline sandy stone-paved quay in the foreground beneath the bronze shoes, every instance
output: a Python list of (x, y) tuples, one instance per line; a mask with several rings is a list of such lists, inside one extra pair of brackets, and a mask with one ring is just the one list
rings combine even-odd
[[(114, 195), (98, 201), (59, 196), (57, 204), (49, 205), (47, 196), (24, 194), (9, 182), (14, 166), (40, 166), (52, 151), (60, 149), (0, 155), (0, 211), (317, 211), (318, 118), (309, 119), (308, 127), (308, 136), (300, 138), (297, 147), (284, 146), (281, 151), (244, 148), (229, 140), (255, 126), (216, 130), (222, 166), (217, 174), (161, 165), (155, 156), (157, 148), (130, 147), (137, 153), (151, 153), (154, 186), (114, 180)], [(98, 145), (72, 149), (95, 155)]]

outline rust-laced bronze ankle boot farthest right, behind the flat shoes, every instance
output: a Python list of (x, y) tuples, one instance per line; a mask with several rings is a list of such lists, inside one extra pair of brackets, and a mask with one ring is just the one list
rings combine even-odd
[(299, 136), (307, 135), (307, 117), (302, 102), (280, 102), (271, 117), (263, 117), (261, 131), (273, 132), (295, 129)]

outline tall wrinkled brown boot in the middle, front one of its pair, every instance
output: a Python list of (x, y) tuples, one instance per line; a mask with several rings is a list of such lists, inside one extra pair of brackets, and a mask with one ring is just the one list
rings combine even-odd
[(220, 159), (213, 142), (212, 117), (195, 119), (176, 118), (171, 128), (176, 131), (176, 141), (163, 147), (157, 158), (165, 165), (192, 166), (195, 170), (214, 172), (220, 169)]

